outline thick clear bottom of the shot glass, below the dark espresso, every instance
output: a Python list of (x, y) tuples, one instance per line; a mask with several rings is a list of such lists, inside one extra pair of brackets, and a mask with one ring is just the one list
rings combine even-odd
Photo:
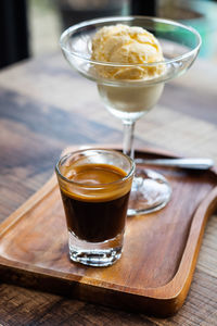
[(103, 242), (88, 242), (68, 231), (69, 258), (73, 262), (88, 266), (113, 265), (122, 256), (124, 231)]

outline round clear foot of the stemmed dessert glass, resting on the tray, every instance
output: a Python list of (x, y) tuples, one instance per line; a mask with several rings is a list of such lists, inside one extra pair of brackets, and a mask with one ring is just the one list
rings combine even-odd
[(171, 196), (166, 178), (146, 168), (136, 170), (128, 204), (128, 216), (148, 214), (164, 208)]

